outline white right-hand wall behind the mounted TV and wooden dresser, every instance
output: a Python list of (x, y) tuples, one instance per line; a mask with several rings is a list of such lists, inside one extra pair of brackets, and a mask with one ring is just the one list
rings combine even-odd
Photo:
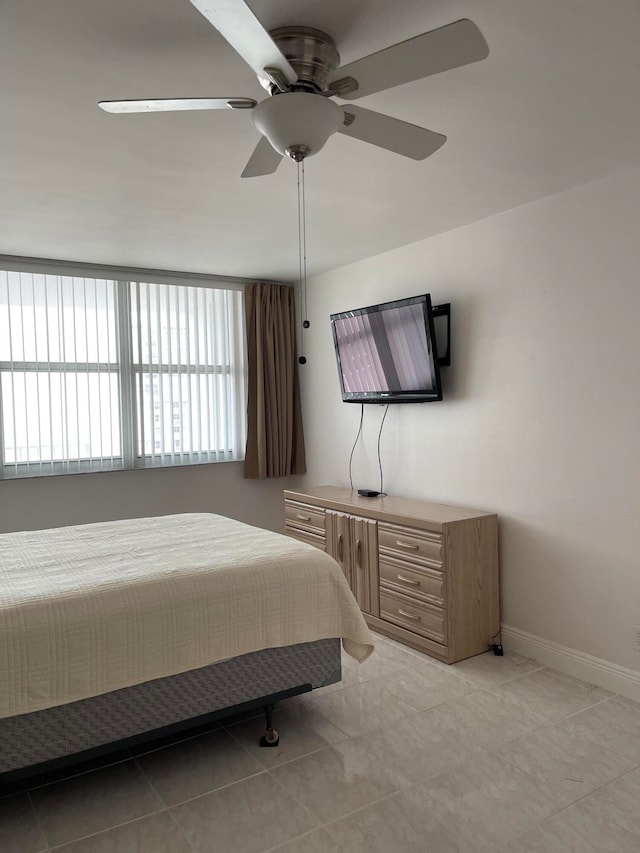
[[(430, 292), (451, 301), (445, 401), (393, 406), (385, 490), (495, 511), (502, 621), (640, 669), (640, 170), (309, 282), (309, 473), (348, 485), (360, 407), (340, 400), (329, 314)], [(377, 488), (382, 409), (354, 485)]]

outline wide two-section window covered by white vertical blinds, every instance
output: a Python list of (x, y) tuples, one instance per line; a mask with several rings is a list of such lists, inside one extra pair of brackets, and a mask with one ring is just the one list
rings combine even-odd
[(0, 477), (242, 459), (241, 290), (0, 271)]

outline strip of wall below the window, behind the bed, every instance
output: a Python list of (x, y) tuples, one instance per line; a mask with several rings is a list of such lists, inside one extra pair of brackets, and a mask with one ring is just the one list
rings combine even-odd
[(299, 477), (244, 480), (241, 462), (0, 482), (0, 533), (178, 512), (284, 527), (282, 490)]

